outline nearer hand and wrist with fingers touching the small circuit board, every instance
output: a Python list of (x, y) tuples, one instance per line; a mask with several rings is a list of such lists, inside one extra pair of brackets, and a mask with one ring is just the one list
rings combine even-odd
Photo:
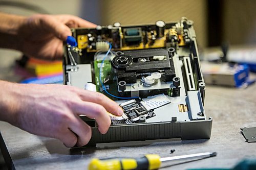
[(94, 118), (104, 134), (111, 125), (107, 111), (118, 116), (123, 113), (105, 95), (73, 86), (0, 84), (5, 89), (0, 93), (3, 120), (35, 135), (57, 138), (66, 147), (81, 147), (91, 138), (91, 127), (79, 118), (80, 114)]

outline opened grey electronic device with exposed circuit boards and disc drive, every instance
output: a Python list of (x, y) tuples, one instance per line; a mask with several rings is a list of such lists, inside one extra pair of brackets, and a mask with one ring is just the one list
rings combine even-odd
[(77, 44), (64, 44), (65, 84), (101, 92), (124, 110), (121, 117), (109, 114), (112, 125), (104, 135), (94, 119), (81, 116), (92, 127), (89, 144), (210, 138), (193, 21), (116, 22), (72, 33)]

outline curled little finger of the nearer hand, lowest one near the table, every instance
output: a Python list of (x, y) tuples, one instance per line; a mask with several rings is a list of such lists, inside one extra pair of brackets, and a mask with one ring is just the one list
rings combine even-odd
[(57, 138), (68, 148), (74, 147), (77, 143), (76, 135), (69, 129), (63, 129)]

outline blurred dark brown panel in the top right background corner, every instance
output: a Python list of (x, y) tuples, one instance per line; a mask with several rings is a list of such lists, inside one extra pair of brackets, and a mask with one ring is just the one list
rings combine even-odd
[(231, 45), (256, 43), (256, 1), (225, 0), (221, 41)]

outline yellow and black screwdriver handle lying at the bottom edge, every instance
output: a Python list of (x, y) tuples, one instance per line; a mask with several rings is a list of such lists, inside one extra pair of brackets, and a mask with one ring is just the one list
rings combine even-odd
[(161, 166), (160, 156), (148, 154), (142, 158), (123, 159), (92, 159), (89, 170), (130, 170), (130, 169), (158, 169)]

